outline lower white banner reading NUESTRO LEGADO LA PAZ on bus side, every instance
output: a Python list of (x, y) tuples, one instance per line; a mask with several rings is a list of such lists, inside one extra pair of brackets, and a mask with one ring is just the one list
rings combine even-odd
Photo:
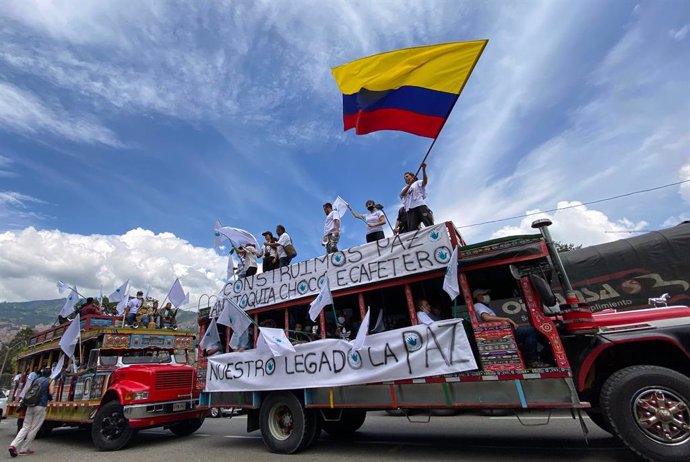
[(477, 369), (461, 319), (367, 337), (361, 351), (345, 340), (295, 345), (283, 356), (256, 350), (208, 358), (206, 391), (337, 387), (453, 374)]

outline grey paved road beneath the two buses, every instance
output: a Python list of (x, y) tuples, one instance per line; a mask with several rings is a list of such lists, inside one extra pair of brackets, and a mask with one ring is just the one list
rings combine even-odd
[[(204, 426), (186, 438), (153, 429), (140, 432), (136, 440), (118, 452), (97, 452), (86, 431), (56, 430), (37, 440), (31, 459), (50, 462), (107, 461), (197, 461), (250, 460), (252, 462), (284, 459), (269, 453), (258, 432), (246, 433), (244, 416), (232, 419), (207, 419)], [(423, 417), (415, 416), (422, 421)], [(523, 427), (512, 416), (505, 417), (433, 417), (431, 423), (409, 423), (405, 417), (391, 417), (370, 412), (354, 442), (332, 440), (323, 433), (300, 461), (381, 461), (468, 460), (468, 461), (634, 461), (632, 453), (608, 433), (591, 422), (589, 445), (582, 437), (579, 423), (561, 414), (548, 426), (537, 426), (542, 417), (528, 417)], [(0, 423), (4, 448), (14, 436), (15, 420)], [(49, 457), (49, 459), (47, 458)], [(25, 460), (29, 456), (17, 460)], [(3, 449), (1, 460), (10, 459)], [(293, 458), (293, 460), (297, 460)]]

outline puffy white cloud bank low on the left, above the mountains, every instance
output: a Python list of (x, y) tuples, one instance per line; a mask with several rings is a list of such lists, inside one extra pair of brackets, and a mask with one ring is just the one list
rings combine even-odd
[(129, 279), (135, 290), (151, 285), (162, 299), (176, 277), (191, 292), (189, 308), (202, 294), (216, 294), (226, 258), (171, 233), (141, 228), (123, 235), (68, 234), (33, 227), (0, 234), (0, 298), (24, 301), (58, 298), (58, 280), (76, 284), (85, 296), (110, 293)]

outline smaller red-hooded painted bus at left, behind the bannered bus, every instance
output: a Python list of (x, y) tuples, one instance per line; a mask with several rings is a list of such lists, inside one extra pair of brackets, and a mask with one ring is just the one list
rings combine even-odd
[[(179, 436), (204, 422), (196, 385), (194, 335), (169, 329), (122, 328), (121, 318), (101, 315), (81, 320), (78, 369), (56, 379), (43, 434), (61, 426), (91, 429), (100, 450), (124, 447), (136, 430), (165, 427)], [(18, 357), (18, 371), (8, 414), (19, 411), (21, 392), (31, 371), (57, 363), (59, 341), (67, 324), (39, 332)]]

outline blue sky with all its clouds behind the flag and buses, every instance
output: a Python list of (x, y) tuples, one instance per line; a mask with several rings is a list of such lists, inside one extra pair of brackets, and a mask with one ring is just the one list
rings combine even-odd
[[(198, 297), (223, 276), (216, 218), (257, 236), (282, 223), (310, 258), (323, 202), (393, 213), (430, 140), (342, 132), (330, 67), (402, 47), (490, 40), (428, 161), (437, 220), (690, 179), (685, 1), (5, 1), (0, 20), (0, 300), (175, 276)], [(686, 183), (550, 216), (589, 245), (688, 204)], [(343, 225), (343, 246), (363, 241)]]

